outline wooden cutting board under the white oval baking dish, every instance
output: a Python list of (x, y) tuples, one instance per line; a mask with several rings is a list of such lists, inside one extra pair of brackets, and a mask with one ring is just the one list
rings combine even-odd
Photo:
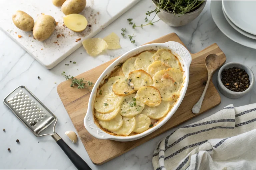
[[(182, 41), (175, 34), (171, 33), (156, 39), (149, 43), (164, 43), (167, 41), (176, 41), (181, 44)], [(148, 43), (148, 44), (149, 44)], [(184, 45), (184, 44), (183, 44)], [(192, 107), (200, 98), (204, 90), (204, 82), (207, 81), (208, 73), (205, 67), (205, 57), (209, 54), (216, 54), (220, 58), (220, 66), (226, 62), (226, 56), (218, 47), (217, 44), (205, 48), (204, 50), (191, 54), (192, 63), (190, 66), (190, 78), (186, 95), (175, 114), (157, 131), (135, 141), (131, 142), (118, 142), (113, 140), (100, 140), (91, 136), (84, 127), (84, 117), (87, 111), (88, 100), (90, 92), (76, 87), (70, 87), (70, 80), (64, 81), (58, 85), (57, 91), (62, 100), (83, 145), (91, 158), (92, 162), (96, 165), (101, 165), (110, 161), (111, 159), (126, 153), (127, 151), (149, 141), (150, 139), (160, 135), (161, 133), (183, 123), (187, 120), (194, 118), (203, 112), (217, 106), (221, 102), (221, 98), (213, 83), (210, 82), (209, 88), (205, 95), (203, 105), (199, 114), (191, 112)], [(78, 75), (76, 78), (84, 78), (96, 82), (101, 73), (114, 61), (113, 59), (98, 67), (95, 67), (85, 73)]]

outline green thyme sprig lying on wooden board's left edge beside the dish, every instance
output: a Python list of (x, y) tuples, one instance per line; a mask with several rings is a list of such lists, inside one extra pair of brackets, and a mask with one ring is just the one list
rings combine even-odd
[[(63, 75), (66, 80), (71, 79), (70, 87), (74, 87), (74, 85), (78, 85), (78, 87), (77, 87), (78, 89), (86, 88), (87, 90), (89, 90), (88, 87), (93, 87), (93, 85), (94, 85), (93, 82), (86, 81), (86, 80), (84, 80), (84, 78), (77, 79), (77, 78), (74, 78), (73, 76), (71, 76), (70, 74), (66, 75), (65, 71), (62, 71), (61, 75)], [(86, 87), (86, 84), (88, 85), (88, 87)], [(91, 91), (91, 90), (89, 90), (89, 91)]]

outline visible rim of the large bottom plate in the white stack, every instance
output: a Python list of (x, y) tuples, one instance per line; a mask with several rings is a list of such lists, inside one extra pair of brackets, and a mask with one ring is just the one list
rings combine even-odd
[(246, 37), (239, 32), (237, 32), (225, 19), (225, 16), (222, 12), (221, 0), (212, 0), (211, 1), (211, 14), (213, 21), (219, 27), (220, 31), (225, 34), (228, 38), (237, 42), (241, 45), (256, 49), (256, 40)]

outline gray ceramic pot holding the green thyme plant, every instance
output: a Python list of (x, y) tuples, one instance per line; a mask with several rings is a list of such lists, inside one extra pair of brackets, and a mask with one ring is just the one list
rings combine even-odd
[[(156, 6), (155, 2), (154, 1), (152, 2)], [(196, 17), (198, 17), (198, 15), (203, 11), (205, 4), (206, 4), (206, 1), (204, 1), (197, 10), (187, 13), (185, 15), (180, 15), (180, 14), (173, 15), (173, 13), (169, 13), (163, 10), (157, 13), (157, 16), (169, 26), (173, 26), (173, 27), (183, 26), (190, 23)]]

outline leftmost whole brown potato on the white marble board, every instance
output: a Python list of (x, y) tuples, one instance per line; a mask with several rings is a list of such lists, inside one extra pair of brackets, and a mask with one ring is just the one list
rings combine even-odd
[(16, 11), (12, 15), (12, 21), (16, 27), (23, 31), (32, 31), (34, 27), (34, 19), (24, 11)]

